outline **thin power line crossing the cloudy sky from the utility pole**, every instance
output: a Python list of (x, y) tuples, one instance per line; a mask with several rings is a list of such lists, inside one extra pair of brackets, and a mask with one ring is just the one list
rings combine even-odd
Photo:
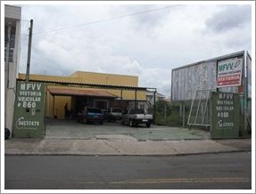
[(78, 24), (78, 25), (74, 25), (74, 26), (70, 26), (70, 27), (65, 27), (65, 28), (55, 28), (55, 29), (45, 30), (45, 31), (42, 31), (42, 32), (35, 32), (34, 35), (47, 34), (47, 33), (52, 33), (52, 32), (55, 32), (55, 31), (60, 31), (60, 30), (69, 29), (69, 28), (79, 28), (79, 27), (82, 27), (82, 26), (93, 25), (93, 24), (100, 23), (100, 22), (103, 22), (103, 21), (119, 20), (119, 19), (122, 19), (122, 18), (130, 17), (130, 16), (145, 14), (145, 13), (148, 13), (148, 12), (159, 12), (161, 10), (165, 10), (165, 9), (169, 9), (169, 8), (173, 8), (173, 7), (178, 7), (178, 6), (182, 6), (182, 5), (184, 5), (184, 4), (166, 6), (166, 7), (161, 7), (161, 8), (153, 9), (153, 10), (147, 10), (147, 11), (143, 11), (143, 12), (129, 13), (129, 14), (126, 14), (126, 15), (115, 16), (115, 17), (111, 17), (111, 18), (103, 19), (103, 20), (90, 21), (90, 22), (87, 22), (87, 23), (82, 23), (82, 24)]

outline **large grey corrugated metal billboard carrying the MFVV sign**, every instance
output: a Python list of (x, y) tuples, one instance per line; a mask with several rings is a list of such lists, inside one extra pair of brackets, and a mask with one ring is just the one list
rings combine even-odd
[(251, 57), (245, 60), (248, 55), (241, 51), (172, 69), (171, 101), (192, 101), (197, 90), (245, 94), (250, 80), (244, 64), (252, 63)]

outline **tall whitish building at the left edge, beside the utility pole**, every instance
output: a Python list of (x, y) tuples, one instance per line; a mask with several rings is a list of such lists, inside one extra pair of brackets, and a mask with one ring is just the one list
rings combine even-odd
[[(9, 53), (7, 51), (9, 47)], [(21, 47), (21, 7), (4, 5), (4, 127), (12, 133)], [(6, 56), (6, 54), (9, 55)]]

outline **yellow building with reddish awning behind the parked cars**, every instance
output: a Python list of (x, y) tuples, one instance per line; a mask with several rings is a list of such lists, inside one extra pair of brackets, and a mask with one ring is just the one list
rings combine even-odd
[[(25, 77), (19, 74), (19, 80)], [(63, 119), (66, 103), (75, 117), (85, 106), (128, 109), (146, 101), (146, 89), (138, 87), (134, 76), (77, 71), (70, 77), (29, 75), (29, 81), (46, 85), (46, 117)]]

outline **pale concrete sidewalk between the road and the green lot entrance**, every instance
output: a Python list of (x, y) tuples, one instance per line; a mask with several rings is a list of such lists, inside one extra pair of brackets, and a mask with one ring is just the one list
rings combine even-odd
[(250, 151), (251, 139), (137, 141), (127, 135), (102, 135), (95, 139), (10, 139), (5, 155), (113, 155), (176, 156)]

